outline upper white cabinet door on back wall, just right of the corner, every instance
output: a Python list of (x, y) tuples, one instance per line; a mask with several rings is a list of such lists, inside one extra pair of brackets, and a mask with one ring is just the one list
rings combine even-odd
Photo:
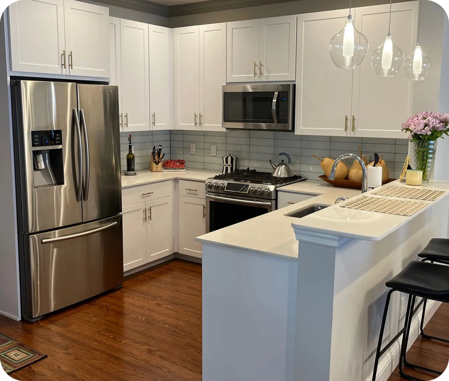
[(196, 130), (199, 118), (198, 26), (173, 32), (175, 58), (175, 128)]

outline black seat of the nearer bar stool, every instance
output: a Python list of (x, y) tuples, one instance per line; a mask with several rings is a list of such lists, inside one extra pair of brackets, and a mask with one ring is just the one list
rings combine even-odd
[(404, 293), (449, 302), (449, 266), (413, 261), (385, 285)]

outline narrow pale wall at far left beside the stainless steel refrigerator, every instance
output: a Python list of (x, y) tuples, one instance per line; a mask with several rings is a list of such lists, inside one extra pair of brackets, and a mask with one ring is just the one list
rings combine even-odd
[[(4, 25), (0, 17), (0, 314), (19, 320), (17, 223), (13, 174), (9, 79)], [(7, 23), (7, 22), (6, 22)]]

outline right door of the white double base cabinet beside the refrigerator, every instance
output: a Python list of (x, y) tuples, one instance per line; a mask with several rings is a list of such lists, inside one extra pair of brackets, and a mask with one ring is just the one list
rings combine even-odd
[(173, 254), (173, 197), (147, 201), (146, 261)]

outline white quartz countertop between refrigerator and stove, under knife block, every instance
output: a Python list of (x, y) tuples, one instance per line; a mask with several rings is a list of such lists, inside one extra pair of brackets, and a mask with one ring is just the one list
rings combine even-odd
[(137, 171), (135, 176), (122, 175), (122, 188), (135, 187), (137, 185), (158, 183), (166, 180), (193, 180), (206, 181), (207, 178), (217, 175), (216, 172), (195, 171), (187, 169), (179, 172), (151, 172)]

